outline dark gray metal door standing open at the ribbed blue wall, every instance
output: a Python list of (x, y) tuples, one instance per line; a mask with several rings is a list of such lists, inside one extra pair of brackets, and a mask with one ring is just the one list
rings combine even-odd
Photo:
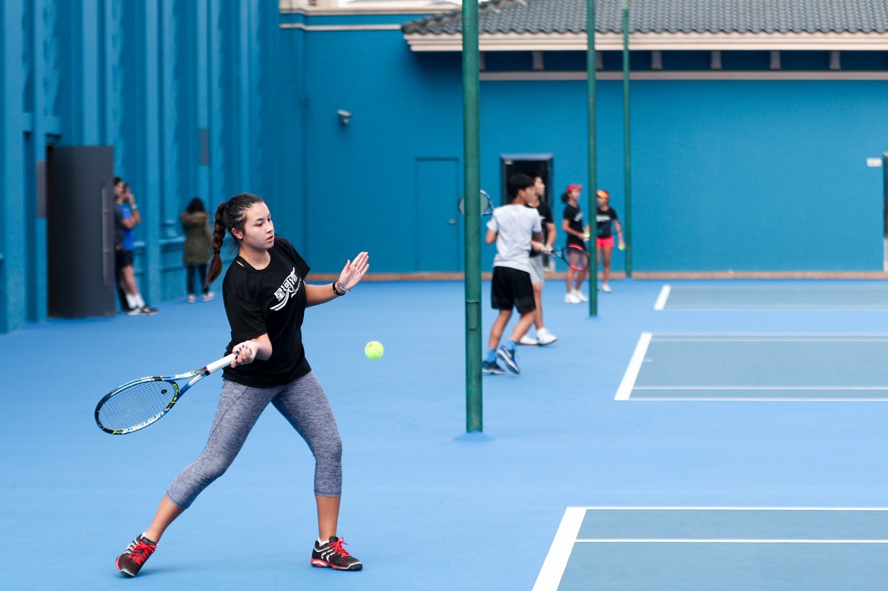
[(49, 315), (112, 316), (114, 148), (53, 146), (46, 159)]

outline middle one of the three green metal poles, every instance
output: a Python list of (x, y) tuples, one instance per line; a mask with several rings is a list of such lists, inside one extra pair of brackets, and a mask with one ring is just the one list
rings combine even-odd
[(587, 200), (589, 206), (586, 211), (589, 212), (589, 229), (592, 237), (589, 240), (591, 264), (591, 276), (589, 278), (589, 315), (599, 315), (599, 247), (595, 240), (596, 221), (595, 215), (598, 211), (598, 202), (595, 201), (595, 192), (599, 186), (599, 169), (598, 169), (598, 113), (595, 108), (596, 89), (595, 75), (596, 62), (595, 57), (595, 2), (596, 0), (586, 0), (586, 36), (588, 41), (586, 44), (586, 95), (587, 109), (589, 114), (589, 191), (587, 192)]

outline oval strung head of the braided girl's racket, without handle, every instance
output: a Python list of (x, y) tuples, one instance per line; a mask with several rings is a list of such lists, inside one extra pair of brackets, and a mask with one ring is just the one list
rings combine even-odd
[(97, 418), (105, 429), (130, 429), (160, 418), (178, 393), (174, 382), (138, 382), (107, 398)]

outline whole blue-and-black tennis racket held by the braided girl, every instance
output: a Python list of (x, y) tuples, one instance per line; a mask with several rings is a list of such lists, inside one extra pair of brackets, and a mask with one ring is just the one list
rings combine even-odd
[[(186, 390), (202, 378), (231, 365), (234, 353), (213, 361), (209, 366), (178, 375), (159, 375), (124, 383), (108, 392), (96, 406), (96, 424), (111, 435), (123, 435), (145, 429), (159, 420), (178, 402)], [(191, 378), (179, 388), (178, 381)]]

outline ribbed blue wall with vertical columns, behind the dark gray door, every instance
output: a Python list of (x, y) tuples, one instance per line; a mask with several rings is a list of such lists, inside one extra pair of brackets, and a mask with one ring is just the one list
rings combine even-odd
[[(280, 18), (268, 0), (0, 0), (0, 332), (46, 318), (46, 144), (110, 145), (142, 210), (152, 303), (185, 296), (178, 214), (280, 201)], [(286, 130), (288, 141), (297, 130)]]

